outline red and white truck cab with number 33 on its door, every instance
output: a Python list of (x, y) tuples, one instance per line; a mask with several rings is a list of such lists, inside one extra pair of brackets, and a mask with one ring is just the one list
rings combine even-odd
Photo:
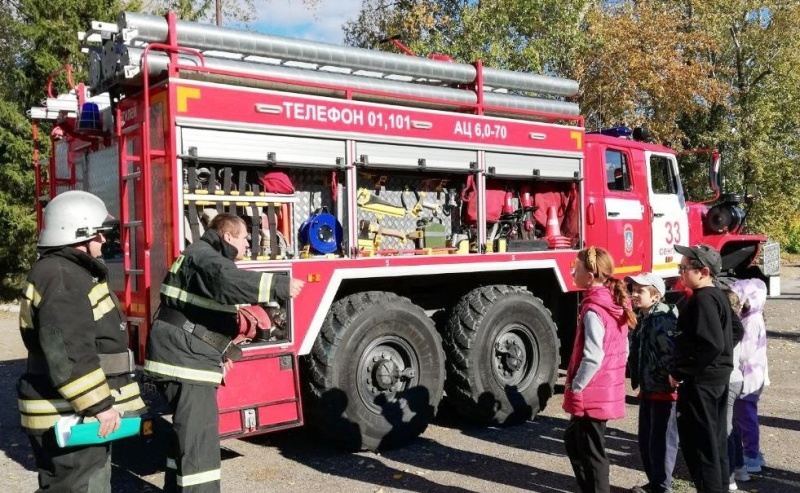
[[(673, 245), (689, 239), (687, 203), (671, 149), (621, 138), (629, 129), (586, 136), (586, 242), (606, 245), (619, 273), (677, 276)], [(622, 134), (618, 136), (617, 134)], [(618, 241), (622, 240), (622, 241)]]

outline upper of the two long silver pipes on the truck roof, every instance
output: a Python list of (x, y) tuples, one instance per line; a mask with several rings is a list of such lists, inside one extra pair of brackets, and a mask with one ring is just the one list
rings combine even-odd
[[(167, 42), (168, 26), (163, 17), (123, 12), (119, 15), (118, 25), (122, 30), (136, 30), (135, 35), (125, 33), (126, 41)], [(475, 67), (466, 63), (238, 31), (198, 22), (179, 20), (176, 29), (178, 44), (198, 50), (227, 51), (453, 84), (471, 84), (477, 77)], [(578, 92), (578, 83), (571, 79), (487, 67), (483, 68), (483, 83), (494, 88), (555, 96), (574, 96)]]

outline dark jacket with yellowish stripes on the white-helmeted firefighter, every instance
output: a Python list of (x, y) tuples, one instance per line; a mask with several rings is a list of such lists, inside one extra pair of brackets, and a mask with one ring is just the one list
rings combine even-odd
[(62, 415), (90, 421), (112, 405), (126, 415), (145, 410), (107, 274), (101, 261), (59, 247), (41, 252), (28, 275), (19, 317), (28, 371), (17, 391), (30, 434), (44, 433)]

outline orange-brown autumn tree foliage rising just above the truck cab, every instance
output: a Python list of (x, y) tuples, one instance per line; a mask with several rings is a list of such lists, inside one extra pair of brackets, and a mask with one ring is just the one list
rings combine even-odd
[(724, 104), (727, 88), (703, 56), (714, 39), (689, 29), (677, 9), (652, 2), (593, 8), (578, 79), (588, 125), (647, 126), (662, 142), (683, 137), (676, 121)]

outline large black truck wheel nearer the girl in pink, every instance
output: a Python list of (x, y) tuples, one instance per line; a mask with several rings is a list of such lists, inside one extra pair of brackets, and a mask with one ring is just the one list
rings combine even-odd
[(484, 286), (461, 298), (443, 336), (447, 399), (483, 424), (520, 423), (553, 394), (559, 340), (550, 311), (517, 286)]

